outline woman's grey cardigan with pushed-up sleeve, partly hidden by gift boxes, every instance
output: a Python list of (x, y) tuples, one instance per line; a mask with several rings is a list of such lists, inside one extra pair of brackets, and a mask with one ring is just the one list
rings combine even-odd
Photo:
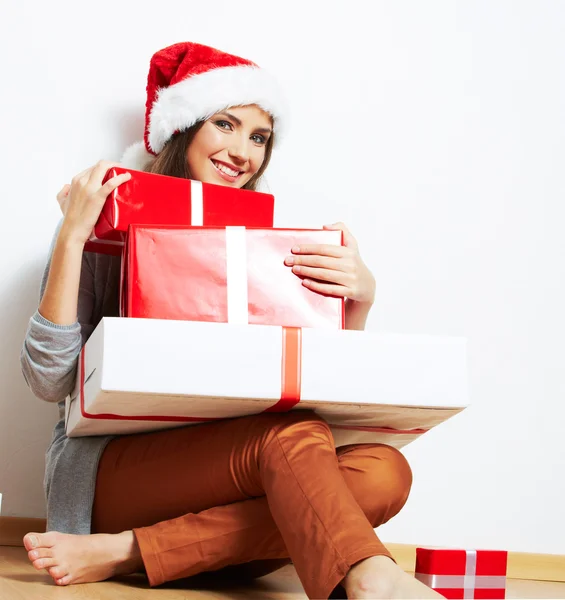
[[(41, 282), (43, 296), (51, 256)], [(46, 453), (45, 494), (47, 530), (90, 533), (98, 461), (114, 436), (68, 438), (65, 435), (65, 398), (74, 386), (80, 349), (103, 316), (118, 316), (120, 258), (85, 252), (82, 257), (78, 320), (56, 325), (39, 312), (31, 317), (20, 355), (31, 391), (41, 400), (58, 403), (59, 422)]]

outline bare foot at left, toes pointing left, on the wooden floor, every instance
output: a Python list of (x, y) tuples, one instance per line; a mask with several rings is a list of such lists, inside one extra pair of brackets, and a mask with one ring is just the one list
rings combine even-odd
[(115, 535), (28, 533), (24, 546), (33, 566), (46, 569), (57, 585), (103, 581), (143, 569), (133, 531)]

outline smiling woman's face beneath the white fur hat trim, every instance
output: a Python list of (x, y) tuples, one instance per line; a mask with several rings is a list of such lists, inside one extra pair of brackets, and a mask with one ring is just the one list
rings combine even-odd
[(234, 106), (216, 113), (186, 151), (191, 177), (243, 187), (263, 164), (272, 128), (270, 115), (258, 106)]

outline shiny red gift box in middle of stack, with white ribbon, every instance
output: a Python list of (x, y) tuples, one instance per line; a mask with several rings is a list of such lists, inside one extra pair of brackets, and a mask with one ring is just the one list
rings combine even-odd
[(342, 232), (244, 227), (129, 228), (121, 316), (343, 328), (343, 298), (302, 285), (295, 245), (342, 244)]

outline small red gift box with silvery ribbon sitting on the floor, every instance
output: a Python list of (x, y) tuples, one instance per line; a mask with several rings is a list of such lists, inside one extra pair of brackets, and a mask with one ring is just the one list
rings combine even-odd
[(446, 598), (504, 598), (505, 550), (416, 548), (416, 579)]

